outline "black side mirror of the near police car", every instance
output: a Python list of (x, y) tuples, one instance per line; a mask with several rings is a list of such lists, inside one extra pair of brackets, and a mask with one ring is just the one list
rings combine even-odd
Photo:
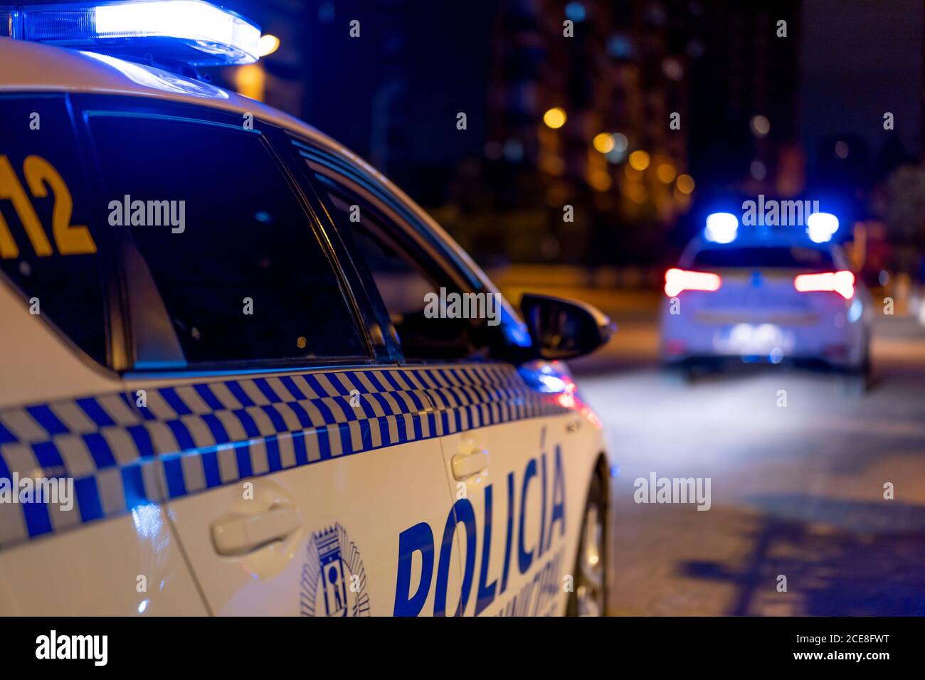
[(543, 359), (572, 359), (594, 352), (611, 339), (616, 326), (597, 308), (586, 303), (524, 293), (521, 312)]

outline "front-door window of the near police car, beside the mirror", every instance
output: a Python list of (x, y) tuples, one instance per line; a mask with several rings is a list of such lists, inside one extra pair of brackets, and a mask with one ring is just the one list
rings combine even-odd
[(439, 312), (440, 305), (454, 296), (462, 301), (464, 291), (423, 250), (402, 237), (399, 217), (388, 206), (337, 179), (320, 173), (314, 179), (352, 255), (375, 281), (404, 357), (459, 360), (487, 356), (498, 335), (487, 316), (493, 310), (497, 318), (499, 309), (478, 304), (495, 301), (488, 303), (483, 293), (474, 299), (476, 305), (468, 309), (468, 315), (463, 315), (462, 308), (460, 315)]

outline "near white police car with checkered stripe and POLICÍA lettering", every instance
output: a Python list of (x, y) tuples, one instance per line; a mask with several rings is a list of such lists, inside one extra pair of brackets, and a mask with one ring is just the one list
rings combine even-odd
[(0, 614), (603, 612), (561, 360), (604, 315), (518, 315), (375, 169), (196, 78), (255, 60), (236, 14), (0, 29)]

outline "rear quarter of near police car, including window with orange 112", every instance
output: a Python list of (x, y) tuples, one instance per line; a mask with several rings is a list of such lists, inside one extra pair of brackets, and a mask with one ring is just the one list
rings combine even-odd
[(202, 613), (137, 456), (106, 445), (139, 417), (68, 95), (0, 93), (0, 127), (0, 615)]

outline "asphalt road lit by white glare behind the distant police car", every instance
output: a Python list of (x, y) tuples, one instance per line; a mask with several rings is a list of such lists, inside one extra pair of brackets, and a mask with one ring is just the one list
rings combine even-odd
[[(620, 467), (611, 613), (925, 614), (925, 329), (878, 322), (858, 394), (779, 366), (672, 381), (652, 317), (621, 326), (573, 364)], [(636, 503), (652, 473), (709, 477), (709, 510)]]

